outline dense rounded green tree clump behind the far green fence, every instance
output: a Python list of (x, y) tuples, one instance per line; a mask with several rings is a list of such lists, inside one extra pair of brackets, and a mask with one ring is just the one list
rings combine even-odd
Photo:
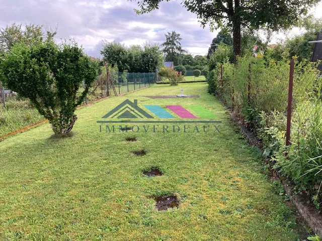
[(150, 44), (145, 44), (143, 48), (137, 45), (127, 48), (120, 43), (106, 43), (101, 54), (108, 64), (117, 66), (120, 72), (152, 73), (164, 62), (159, 46)]

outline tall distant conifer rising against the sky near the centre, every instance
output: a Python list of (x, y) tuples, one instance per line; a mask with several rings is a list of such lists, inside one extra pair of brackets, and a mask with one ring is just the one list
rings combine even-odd
[(166, 36), (166, 42), (164, 42), (161, 46), (164, 47), (163, 52), (166, 55), (166, 61), (174, 62), (174, 65), (179, 65), (181, 62), (181, 55), (186, 51), (181, 47), (180, 34), (177, 34), (175, 31), (171, 33), (168, 32)]

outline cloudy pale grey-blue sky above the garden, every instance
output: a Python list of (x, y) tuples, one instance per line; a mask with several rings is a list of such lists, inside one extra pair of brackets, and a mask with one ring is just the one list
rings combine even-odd
[[(218, 31), (201, 28), (181, 2), (165, 2), (159, 10), (138, 16), (133, 11), (137, 5), (127, 0), (1, 0), (0, 28), (14, 22), (51, 29), (58, 25), (60, 38), (74, 38), (93, 57), (100, 56), (103, 40), (125, 45), (161, 44), (165, 34), (175, 30), (181, 34), (184, 49), (205, 55)], [(312, 13), (321, 17), (322, 4)]]

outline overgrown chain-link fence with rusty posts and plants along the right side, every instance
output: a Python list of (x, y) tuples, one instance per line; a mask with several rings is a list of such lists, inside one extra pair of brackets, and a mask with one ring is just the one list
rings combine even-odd
[(322, 76), (316, 63), (240, 59), (209, 84), (264, 145), (264, 156), (317, 208), (322, 203)]

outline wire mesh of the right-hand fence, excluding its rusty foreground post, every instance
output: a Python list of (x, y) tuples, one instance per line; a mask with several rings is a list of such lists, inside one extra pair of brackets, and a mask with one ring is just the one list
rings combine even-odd
[[(217, 68), (216, 92), (228, 107), (252, 120), (252, 111), (270, 116), (266, 126), (285, 136), (289, 92), (289, 63), (238, 61)], [(322, 76), (316, 63), (296, 63), (293, 75), (291, 139), (298, 144), (322, 128)], [(255, 116), (256, 117), (256, 116)], [(320, 136), (322, 137), (322, 135)]]

